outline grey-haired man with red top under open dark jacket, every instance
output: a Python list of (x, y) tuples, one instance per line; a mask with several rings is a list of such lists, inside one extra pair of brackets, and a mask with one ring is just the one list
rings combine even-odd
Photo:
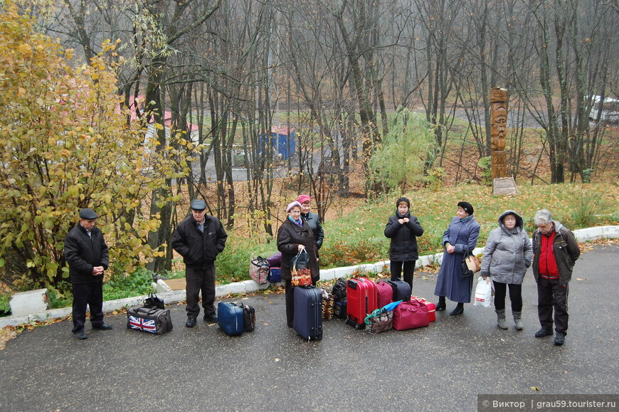
[(568, 328), (568, 283), (581, 250), (573, 233), (552, 220), (550, 211), (537, 211), (534, 222), (537, 230), (533, 233), (533, 275), (537, 282), (537, 314), (541, 324), (535, 337), (553, 334), (554, 308), (554, 344), (561, 346)]

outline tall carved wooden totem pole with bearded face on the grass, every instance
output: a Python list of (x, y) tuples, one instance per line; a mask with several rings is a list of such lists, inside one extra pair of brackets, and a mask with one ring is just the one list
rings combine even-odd
[(507, 177), (507, 89), (493, 88), (490, 92), (490, 149), (492, 150), (492, 179)]

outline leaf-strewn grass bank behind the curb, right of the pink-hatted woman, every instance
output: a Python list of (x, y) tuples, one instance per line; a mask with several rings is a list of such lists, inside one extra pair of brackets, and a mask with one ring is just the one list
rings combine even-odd
[[(457, 202), (462, 200), (475, 208), (475, 218), (481, 226), (479, 247), (485, 245), (488, 234), (498, 225), (497, 219), (507, 209), (524, 218), (529, 236), (536, 228), (533, 216), (541, 208), (549, 209), (555, 220), (571, 230), (619, 224), (619, 213), (612, 206), (618, 196), (615, 184), (524, 184), (518, 189), (520, 196), (492, 196), (491, 187), (460, 184), (440, 192), (423, 189), (405, 194), (411, 200), (411, 213), (424, 228), (423, 236), (417, 239), (419, 254), (443, 250), (443, 233), (455, 216)], [(396, 197), (368, 203), (325, 222), (325, 241), (320, 250), (322, 267), (388, 260), (389, 239), (385, 238), (384, 229), (389, 216), (396, 211)], [(366, 253), (361, 253), (364, 250)]]

